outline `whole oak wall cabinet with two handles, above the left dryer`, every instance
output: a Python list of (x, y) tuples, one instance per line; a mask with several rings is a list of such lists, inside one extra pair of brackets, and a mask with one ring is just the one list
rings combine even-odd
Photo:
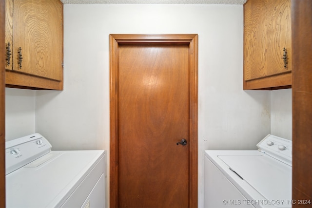
[(5, 4), (6, 87), (62, 90), (63, 4), (60, 0)]

